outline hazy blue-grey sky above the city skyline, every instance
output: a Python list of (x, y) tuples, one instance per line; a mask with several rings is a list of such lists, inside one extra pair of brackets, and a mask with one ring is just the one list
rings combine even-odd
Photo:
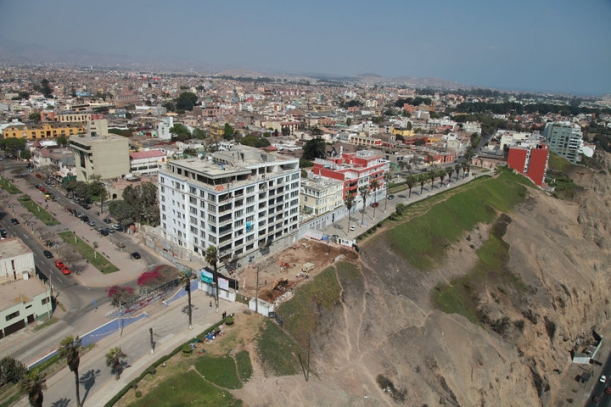
[(611, 0), (0, 0), (3, 44), (611, 93)]

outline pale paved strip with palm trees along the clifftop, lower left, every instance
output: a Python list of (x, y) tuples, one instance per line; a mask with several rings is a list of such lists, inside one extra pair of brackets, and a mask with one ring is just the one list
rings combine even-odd
[[(221, 319), (221, 313), (240, 312), (245, 309), (241, 303), (221, 301), (219, 312), (210, 308), (210, 297), (202, 291), (192, 294), (193, 329), (187, 327), (188, 316), (184, 312), (187, 300), (171, 303), (167, 308), (162, 304), (153, 305), (149, 318), (126, 327), (122, 334), (113, 334), (96, 343), (95, 347), (81, 357), (79, 375), (80, 395), (83, 405), (103, 407), (125, 385), (140, 375), (150, 364), (170, 353), (179, 345), (194, 338), (206, 328)], [(153, 328), (155, 353), (150, 354), (149, 328)], [(111, 375), (106, 366), (106, 353), (113, 347), (120, 347), (127, 354), (128, 366), (119, 380)], [(47, 380), (44, 392), (45, 406), (75, 406), (74, 374), (65, 367)], [(21, 399), (16, 406), (27, 407), (27, 398)]]

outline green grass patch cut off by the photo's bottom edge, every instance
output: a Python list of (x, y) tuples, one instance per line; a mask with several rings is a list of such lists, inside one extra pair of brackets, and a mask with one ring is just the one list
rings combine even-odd
[(227, 390), (204, 380), (191, 370), (159, 383), (151, 392), (132, 403), (132, 407), (240, 407), (242, 401), (236, 400)]

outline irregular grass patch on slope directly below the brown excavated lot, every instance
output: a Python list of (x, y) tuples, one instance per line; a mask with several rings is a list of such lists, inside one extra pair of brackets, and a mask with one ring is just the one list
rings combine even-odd
[(335, 268), (326, 268), (296, 290), (290, 301), (280, 306), (278, 312), (284, 321), (284, 328), (302, 346), (307, 346), (308, 333), (314, 332), (318, 325), (318, 310), (334, 307), (340, 299), (340, 291)]

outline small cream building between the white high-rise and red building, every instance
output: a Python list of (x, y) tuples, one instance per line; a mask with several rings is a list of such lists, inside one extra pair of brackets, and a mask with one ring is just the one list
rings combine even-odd
[(343, 191), (344, 182), (337, 179), (319, 176), (302, 179), (299, 209), (314, 216), (332, 211), (344, 205)]

